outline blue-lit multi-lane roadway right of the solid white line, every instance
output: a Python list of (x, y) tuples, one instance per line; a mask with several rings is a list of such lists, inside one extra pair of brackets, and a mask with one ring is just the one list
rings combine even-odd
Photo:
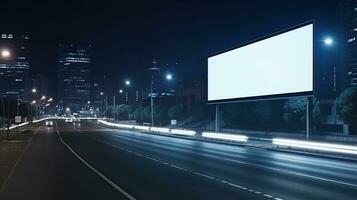
[[(59, 123), (64, 141), (137, 199), (355, 199), (356, 163)], [(240, 198), (239, 198), (240, 197)]]

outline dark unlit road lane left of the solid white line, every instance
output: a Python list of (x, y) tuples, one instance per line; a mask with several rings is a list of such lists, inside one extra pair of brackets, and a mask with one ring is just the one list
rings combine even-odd
[(1, 200), (127, 199), (74, 157), (42, 123), (0, 191)]

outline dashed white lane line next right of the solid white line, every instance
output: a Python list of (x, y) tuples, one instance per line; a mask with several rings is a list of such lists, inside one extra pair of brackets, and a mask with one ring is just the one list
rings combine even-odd
[[(93, 138), (92, 138), (93, 139)], [(190, 174), (194, 174), (194, 175), (197, 175), (197, 176), (200, 176), (200, 177), (204, 177), (204, 178), (207, 178), (207, 179), (210, 179), (210, 180), (214, 180), (214, 181), (217, 181), (221, 184), (226, 184), (226, 185), (230, 185), (230, 186), (233, 186), (235, 188), (238, 188), (238, 189), (241, 189), (241, 190), (245, 190), (246, 192), (250, 192), (250, 193), (253, 193), (255, 195), (260, 195), (262, 197), (265, 197), (265, 198), (275, 198), (273, 195), (269, 195), (269, 197), (263, 195), (265, 193), (262, 193), (262, 192), (258, 192), (257, 191), (254, 191), (254, 190), (251, 190), (249, 191), (246, 187), (243, 187), (243, 186), (240, 186), (240, 185), (237, 185), (237, 184), (234, 184), (234, 183), (231, 183), (229, 181), (225, 181), (225, 180), (222, 180), (222, 179), (219, 179), (219, 178), (216, 178), (216, 177), (213, 177), (213, 176), (209, 176), (209, 175), (206, 175), (206, 174), (203, 174), (203, 173), (200, 173), (200, 172), (197, 172), (197, 171), (193, 171), (193, 170), (190, 170), (190, 169), (186, 169), (186, 168), (183, 168), (183, 167), (178, 167), (177, 165), (173, 165), (173, 164), (169, 164), (168, 162), (165, 162), (165, 161), (161, 161), (161, 160), (158, 160), (156, 158), (152, 158), (150, 156), (146, 156), (146, 155), (143, 155), (143, 154), (140, 154), (135, 152), (135, 151), (132, 151), (132, 150), (129, 150), (129, 149), (126, 149), (124, 147), (121, 147), (121, 146), (118, 146), (118, 145), (113, 145), (113, 144), (110, 144), (110, 143), (107, 143), (107, 142), (103, 142), (103, 141), (99, 141), (99, 140), (96, 140), (100, 143), (103, 143), (103, 144), (106, 144), (106, 145), (109, 145), (109, 146), (112, 146), (116, 149), (120, 149), (122, 151), (125, 151), (125, 152), (128, 152), (128, 153), (131, 153), (133, 155), (136, 155), (136, 156), (139, 156), (139, 157), (142, 157), (142, 158), (146, 158), (148, 160), (152, 160), (154, 162), (158, 162), (158, 163), (161, 163), (163, 165), (166, 165), (166, 166), (169, 166), (169, 167), (172, 167), (172, 168), (175, 168), (177, 170), (181, 170), (181, 171), (184, 171), (186, 173), (190, 173)], [(173, 167), (175, 166), (175, 167)], [(281, 199), (283, 200), (283, 199)]]

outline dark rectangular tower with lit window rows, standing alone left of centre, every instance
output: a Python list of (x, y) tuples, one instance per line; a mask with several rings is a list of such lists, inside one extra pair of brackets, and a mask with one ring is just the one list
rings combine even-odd
[(58, 48), (58, 99), (71, 112), (89, 109), (90, 45), (60, 44)]

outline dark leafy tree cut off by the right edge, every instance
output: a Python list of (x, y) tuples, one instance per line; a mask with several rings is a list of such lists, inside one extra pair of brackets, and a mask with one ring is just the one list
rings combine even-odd
[(352, 128), (357, 124), (357, 87), (345, 89), (336, 99), (337, 114)]

